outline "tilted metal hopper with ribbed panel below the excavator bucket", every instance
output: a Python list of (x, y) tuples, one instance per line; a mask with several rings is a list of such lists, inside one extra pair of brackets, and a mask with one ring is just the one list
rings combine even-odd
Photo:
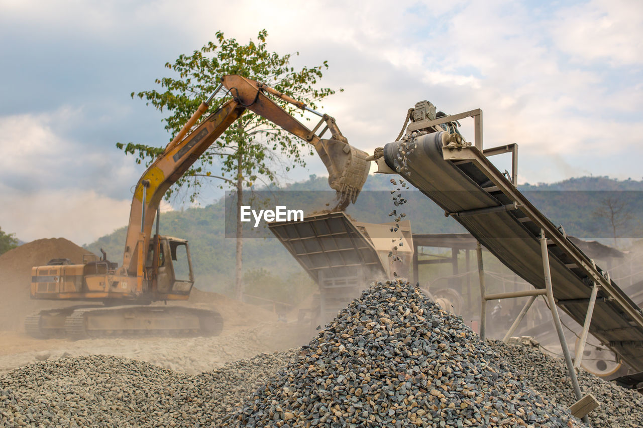
[[(332, 319), (375, 280), (406, 276), (413, 255), (410, 222), (392, 232), (390, 224), (355, 222), (345, 213), (327, 213), (298, 222), (274, 222), (269, 229), (320, 287), (321, 322)], [(392, 240), (402, 238), (397, 251)], [(398, 241), (399, 242), (399, 241)], [(393, 262), (394, 251), (401, 262)]]

